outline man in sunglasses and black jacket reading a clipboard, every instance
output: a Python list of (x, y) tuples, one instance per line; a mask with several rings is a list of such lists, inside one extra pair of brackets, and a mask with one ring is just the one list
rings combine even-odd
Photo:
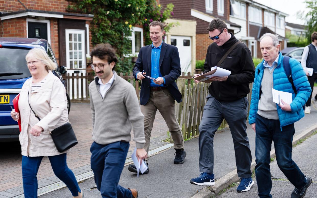
[[(254, 183), (250, 170), (251, 150), (246, 133), (249, 106), (246, 96), (250, 92), (249, 83), (254, 80), (254, 64), (250, 50), (242, 42), (237, 43), (239, 41), (228, 32), (227, 25), (222, 20), (215, 18), (210, 22), (207, 30), (213, 42), (207, 50), (204, 73), (209, 72), (211, 67), (217, 66), (230, 70), (231, 74), (212, 77), (213, 81), (208, 88), (209, 94), (199, 125), (201, 174), (197, 178), (192, 178), (190, 182), (196, 185), (215, 185), (213, 140), (218, 127), (225, 119), (233, 138), (238, 176), (242, 178), (237, 191), (245, 192), (250, 190)], [(224, 57), (234, 44), (237, 45)], [(217, 65), (223, 57), (224, 61)]]

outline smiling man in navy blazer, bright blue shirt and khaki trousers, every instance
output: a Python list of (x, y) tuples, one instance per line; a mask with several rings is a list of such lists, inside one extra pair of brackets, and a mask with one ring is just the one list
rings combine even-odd
[[(156, 111), (163, 116), (171, 137), (174, 140), (175, 164), (184, 163), (186, 152), (184, 150), (184, 138), (175, 114), (175, 101), (182, 101), (175, 80), (180, 76), (180, 60), (178, 49), (162, 41), (165, 34), (164, 23), (153, 21), (149, 24), (151, 45), (142, 47), (139, 57), (133, 68), (133, 76), (136, 80), (142, 80), (140, 104), (144, 114), (144, 132), (146, 143), (144, 149), (148, 152), (150, 137)], [(151, 80), (152, 77), (156, 80)], [(148, 163), (148, 158), (146, 163)], [(137, 172), (134, 165), (128, 168), (131, 172)], [(148, 173), (148, 169), (143, 174)]]

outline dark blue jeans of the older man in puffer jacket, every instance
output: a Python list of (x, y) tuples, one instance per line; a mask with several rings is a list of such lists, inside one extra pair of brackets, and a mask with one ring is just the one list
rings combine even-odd
[(270, 151), (272, 140), (278, 167), (287, 179), (296, 187), (306, 185), (306, 178), (292, 160), (294, 124), (280, 128), (279, 120), (256, 115), (256, 182), (260, 197), (272, 197), (270, 174)]

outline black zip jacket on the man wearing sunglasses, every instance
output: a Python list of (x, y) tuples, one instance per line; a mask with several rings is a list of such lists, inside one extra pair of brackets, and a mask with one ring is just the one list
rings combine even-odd
[(238, 44), (222, 62), (216, 65), (229, 48), (238, 40), (231, 34), (231, 38), (222, 46), (215, 42), (208, 47), (204, 63), (204, 73), (211, 67), (217, 66), (231, 71), (226, 81), (213, 81), (208, 90), (211, 96), (220, 101), (234, 101), (247, 96), (250, 92), (249, 83), (254, 80), (254, 63), (252, 55), (244, 43)]

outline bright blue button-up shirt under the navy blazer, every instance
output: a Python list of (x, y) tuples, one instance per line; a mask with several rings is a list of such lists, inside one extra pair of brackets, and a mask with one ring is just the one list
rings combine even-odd
[[(161, 45), (159, 47), (155, 47), (153, 45), (153, 42), (152, 42), (152, 50), (151, 50), (151, 77), (152, 78), (159, 78), (159, 77), (162, 77), (162, 74), (161, 72), (159, 71), (159, 58), (160, 58), (160, 55), (161, 55), (161, 48), (162, 48), (162, 44), (163, 44), (163, 41), (161, 43)], [(139, 73), (139, 72), (138, 72)], [(138, 73), (135, 75), (135, 77), (137, 77)], [(164, 80), (164, 84), (165, 84), (165, 78), (163, 78)], [(153, 82), (153, 80), (151, 80), (151, 83), (150, 83), (150, 86), (151, 87), (158, 87), (158, 86), (164, 86), (163, 84), (162, 85), (157, 85)]]

